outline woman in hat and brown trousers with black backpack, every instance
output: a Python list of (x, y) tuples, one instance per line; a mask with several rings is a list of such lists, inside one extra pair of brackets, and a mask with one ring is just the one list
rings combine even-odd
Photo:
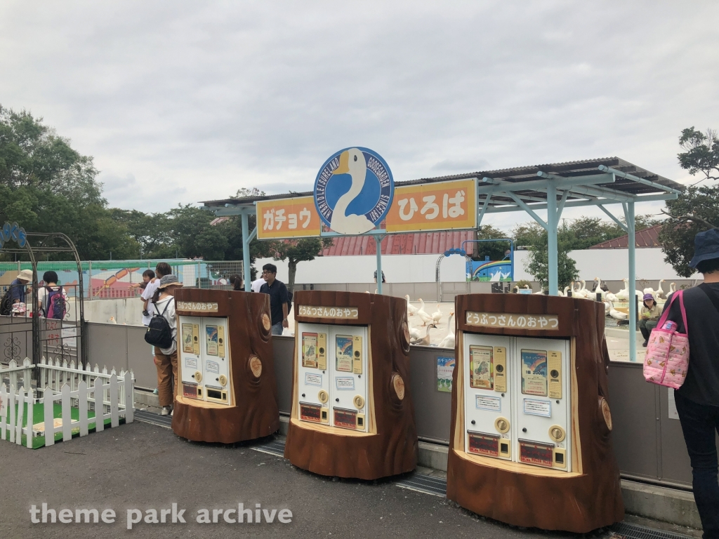
[[(175, 395), (177, 395), (178, 380), (178, 346), (177, 346), (177, 320), (175, 318), (175, 289), (181, 287), (176, 275), (165, 275), (160, 279), (160, 285), (155, 290), (152, 303), (155, 306), (155, 314), (152, 318), (164, 318), (165, 323), (153, 323), (147, 327), (150, 332), (155, 326), (160, 326), (160, 331), (170, 331), (172, 340), (167, 348), (155, 346), (155, 367), (157, 367), (157, 395), (160, 397), (162, 406), (161, 415), (171, 415)], [(147, 337), (146, 337), (147, 340)]]

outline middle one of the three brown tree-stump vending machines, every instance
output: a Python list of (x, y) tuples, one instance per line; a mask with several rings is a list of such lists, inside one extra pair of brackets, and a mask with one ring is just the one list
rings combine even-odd
[(292, 416), (285, 458), (357, 479), (415, 469), (406, 301), (362, 292), (295, 294)]

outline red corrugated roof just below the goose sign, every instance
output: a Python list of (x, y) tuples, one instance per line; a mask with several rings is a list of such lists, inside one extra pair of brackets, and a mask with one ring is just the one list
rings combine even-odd
[[(462, 241), (476, 239), (473, 230), (391, 234), (382, 242), (382, 254), (441, 254), (462, 247)], [(332, 247), (324, 249), (324, 257), (377, 254), (377, 242), (370, 236), (335, 237)]]

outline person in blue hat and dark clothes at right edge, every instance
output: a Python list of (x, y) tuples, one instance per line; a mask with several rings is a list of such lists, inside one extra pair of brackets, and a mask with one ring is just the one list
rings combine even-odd
[[(697, 234), (690, 266), (704, 275), (704, 283), (684, 290), (688, 332), (678, 298), (669, 310), (668, 318), (677, 323), (677, 331), (689, 333), (687, 379), (674, 397), (692, 462), (692, 487), (704, 539), (716, 539), (719, 482), (714, 433), (719, 433), (719, 229)], [(665, 310), (673, 295), (667, 298)]]

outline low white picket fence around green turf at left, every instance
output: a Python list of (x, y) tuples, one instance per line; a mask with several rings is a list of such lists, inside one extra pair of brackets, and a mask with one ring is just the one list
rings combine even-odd
[[(133, 391), (134, 376), (132, 371), (120, 372), (119, 377), (115, 370), (102, 371), (96, 365), (94, 369), (89, 366), (83, 369), (80, 365), (75, 368), (73, 361), (60, 359), (42, 359), (40, 364), (40, 379), (35, 397), (32, 387), (25, 389), (31, 383), (32, 363), (24, 359), (22, 365), (11, 361), (4, 368), (0, 365), (0, 382), (5, 375), (11, 382), (9, 390), (4, 382), (0, 384), (0, 440), (5, 440), (8, 430), (9, 441), (22, 445), (22, 435), (26, 436), (27, 447), (32, 447), (33, 436), (45, 435), (45, 446), (55, 443), (55, 433), (63, 433), (63, 441), (73, 436), (73, 430), (80, 436), (87, 436), (88, 425), (95, 423), (95, 430), (104, 430), (106, 419), (110, 420), (111, 427), (119, 425), (120, 418), (125, 423), (134, 420)], [(16, 390), (19, 377), (22, 377), (22, 386)], [(14, 383), (13, 383), (14, 382)], [(55, 418), (54, 404), (60, 402), (62, 417)], [(94, 418), (88, 418), (89, 403), (92, 403), (95, 412)], [(22, 426), (24, 405), (27, 404), (27, 425)], [(17, 405), (17, 410), (16, 410)], [(32, 418), (35, 406), (43, 406), (44, 422), (33, 428)], [(77, 407), (78, 420), (72, 420), (70, 409)], [(9, 418), (8, 416), (9, 409)], [(52, 435), (50, 435), (52, 433)]]

